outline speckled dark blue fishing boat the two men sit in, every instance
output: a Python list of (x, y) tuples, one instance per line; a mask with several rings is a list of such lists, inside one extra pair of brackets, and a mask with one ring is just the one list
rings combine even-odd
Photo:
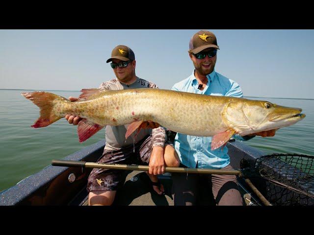
[[(167, 131), (168, 141), (174, 140), (175, 133)], [(105, 147), (105, 140), (85, 147), (63, 160), (96, 163), (102, 155)], [(254, 171), (257, 162), (264, 158), (265, 153), (256, 148), (250, 147), (241, 141), (230, 140), (227, 143), (231, 165), (234, 169), (246, 169)], [(270, 167), (271, 174), (276, 180), (269, 180), (263, 177), (238, 176), (238, 183), (243, 204), (246, 206), (265, 205), (262, 197), (269, 202), (269, 205), (314, 205), (314, 177), (313, 174), (306, 174), (304, 179), (296, 181), (293, 176), (304, 174), (299, 168), (272, 158), (262, 163)], [(313, 160), (313, 159), (312, 159)], [(277, 162), (276, 162), (277, 161)], [(280, 165), (280, 170), (276, 166)], [(263, 166), (263, 167), (264, 167)], [(265, 168), (265, 167), (264, 167)], [(278, 168), (277, 168), (278, 169)], [(283, 170), (284, 169), (284, 170)], [(17, 183), (15, 186), (0, 192), (0, 205), (88, 205), (88, 192), (86, 191), (87, 178), (92, 168), (67, 167), (49, 165), (40, 172), (30, 175)], [(269, 170), (268, 170), (269, 171)], [(299, 173), (298, 173), (299, 172)], [(144, 171), (125, 170), (125, 181), (117, 190), (113, 206), (172, 206), (174, 201), (171, 194), (172, 179), (171, 173), (166, 172), (158, 175), (165, 188), (165, 195), (156, 195), (151, 186), (141, 180)], [(282, 178), (281, 178), (282, 177)], [(283, 182), (282, 179), (288, 178)], [(289, 181), (290, 180), (290, 181)], [(297, 185), (289, 184), (291, 180)], [(303, 181), (302, 181), (303, 180)], [(288, 182), (288, 183), (287, 183)], [(249, 187), (250, 184), (253, 187)], [(303, 188), (302, 188), (303, 187)], [(204, 187), (201, 193), (201, 205), (215, 205), (211, 190)]]

